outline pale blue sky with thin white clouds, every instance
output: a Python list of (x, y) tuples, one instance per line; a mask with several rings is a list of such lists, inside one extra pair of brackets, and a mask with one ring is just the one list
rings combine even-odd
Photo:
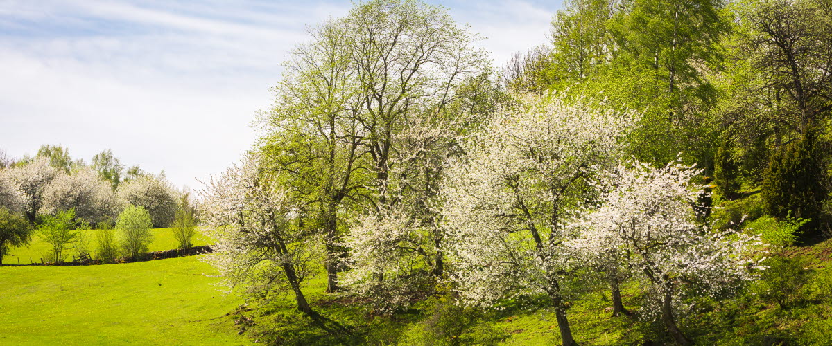
[[(561, 1), (435, 1), (503, 66)], [(61, 144), (200, 189), (250, 149), (288, 53), (349, 1), (0, 0), (0, 149)]]

